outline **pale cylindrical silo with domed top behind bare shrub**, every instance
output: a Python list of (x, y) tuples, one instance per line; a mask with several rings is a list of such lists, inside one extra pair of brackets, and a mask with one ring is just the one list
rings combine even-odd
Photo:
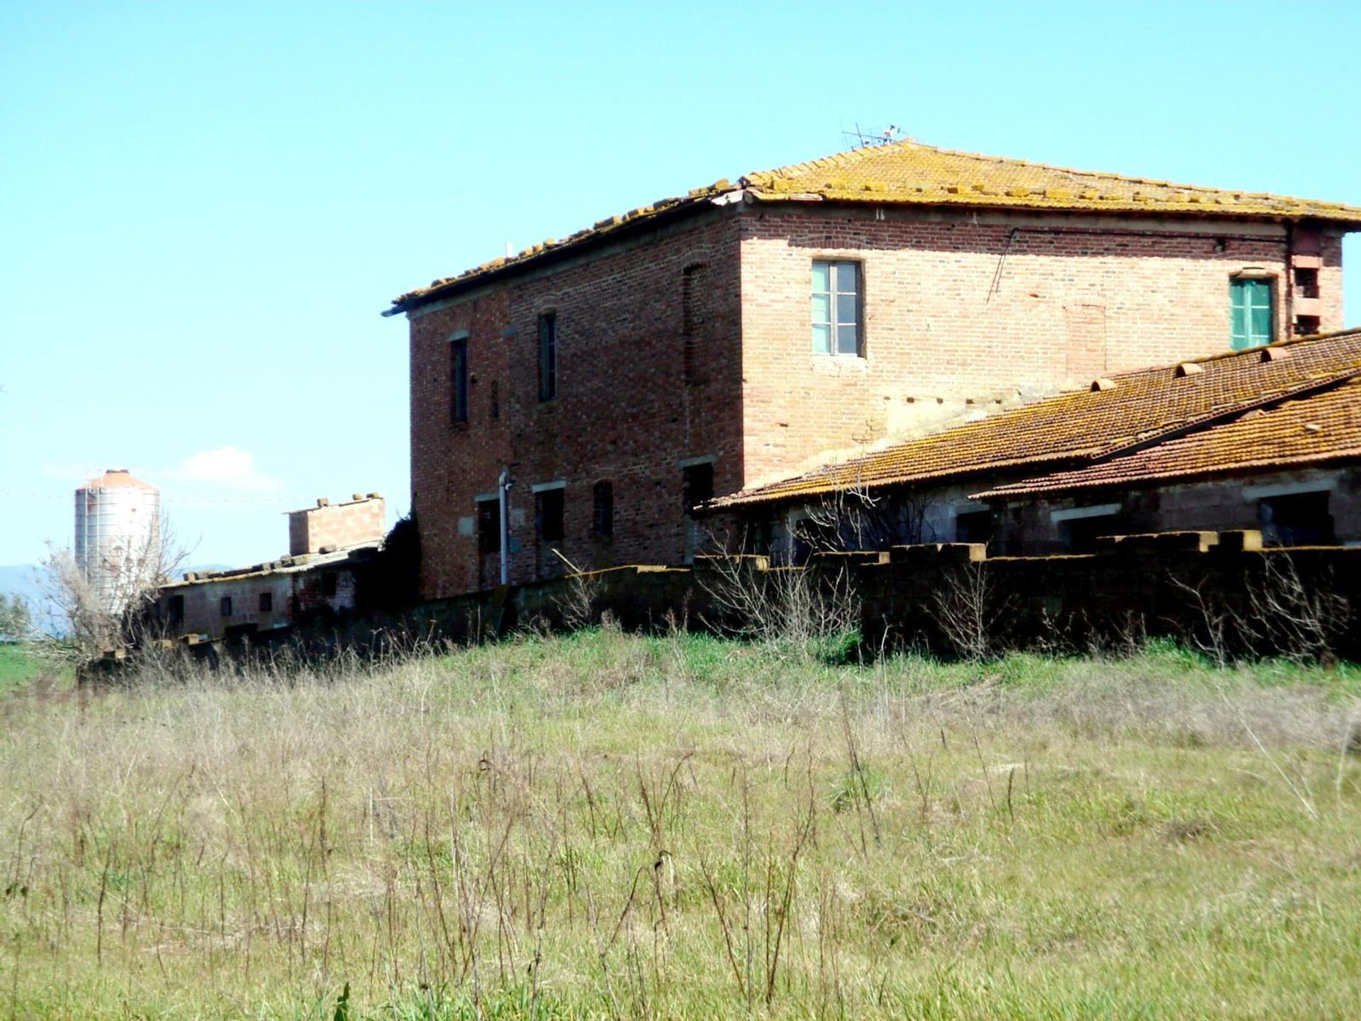
[(128, 600), (159, 584), (161, 493), (110, 468), (76, 490), (76, 566), (97, 604), (120, 613)]

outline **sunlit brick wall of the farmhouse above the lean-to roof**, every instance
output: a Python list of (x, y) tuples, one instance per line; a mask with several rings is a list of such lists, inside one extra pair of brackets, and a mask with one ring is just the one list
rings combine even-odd
[[(1288, 335), (1277, 225), (875, 216), (811, 206), (742, 216), (747, 485), (999, 402), (1226, 350), (1229, 275), (1245, 267), (1278, 275), (1277, 336)], [(1337, 329), (1339, 238), (1326, 236), (1322, 253), (1320, 325)], [(810, 263), (823, 256), (863, 263), (864, 358), (811, 353)]]

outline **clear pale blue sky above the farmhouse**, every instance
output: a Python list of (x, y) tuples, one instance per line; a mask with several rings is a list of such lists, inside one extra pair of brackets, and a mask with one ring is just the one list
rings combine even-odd
[(1361, 204), (1357, 38), (1357, 3), (8, 0), (0, 564), (105, 467), (197, 562), (276, 555), (317, 496), (404, 512), (393, 295), (857, 121)]

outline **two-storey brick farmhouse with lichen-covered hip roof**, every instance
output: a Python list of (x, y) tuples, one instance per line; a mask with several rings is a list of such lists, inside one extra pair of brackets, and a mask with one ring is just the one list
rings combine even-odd
[(1339, 329), (1358, 227), (1349, 206), (902, 142), (436, 280), (387, 313), (410, 321), (422, 595), (497, 584), (502, 524), (512, 581), (678, 562), (739, 525), (695, 516), (713, 497)]

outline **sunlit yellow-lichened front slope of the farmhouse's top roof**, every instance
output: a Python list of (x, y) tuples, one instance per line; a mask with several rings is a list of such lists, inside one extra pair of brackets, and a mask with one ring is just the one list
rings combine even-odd
[(836, 201), (1311, 216), (1361, 223), (1361, 208), (1341, 203), (1072, 170), (917, 142), (870, 146), (749, 174), (742, 184), (757, 197), (769, 199), (792, 192)]

